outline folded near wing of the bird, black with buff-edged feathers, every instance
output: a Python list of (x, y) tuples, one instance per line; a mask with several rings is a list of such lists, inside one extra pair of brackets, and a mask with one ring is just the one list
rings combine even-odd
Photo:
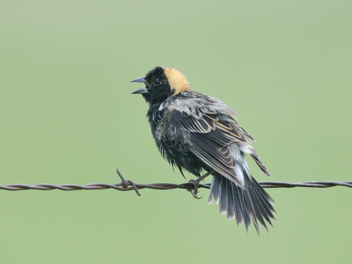
[(165, 110), (170, 111), (170, 121), (189, 133), (190, 149), (199, 159), (243, 186), (234, 169), (234, 148), (237, 146), (239, 150), (240, 145), (252, 143), (254, 139), (231, 117), (235, 112), (223, 102), (203, 94), (192, 94), (197, 97), (168, 102)]

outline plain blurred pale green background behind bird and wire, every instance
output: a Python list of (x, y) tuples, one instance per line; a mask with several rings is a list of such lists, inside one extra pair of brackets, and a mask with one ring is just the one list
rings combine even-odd
[[(270, 180), (351, 181), (351, 13), (351, 1), (1, 1), (0, 184), (116, 183), (116, 168), (185, 182), (130, 94), (156, 65), (239, 111)], [(351, 261), (351, 189), (267, 191), (277, 222), (258, 237), (206, 189), (1, 190), (1, 262)]]

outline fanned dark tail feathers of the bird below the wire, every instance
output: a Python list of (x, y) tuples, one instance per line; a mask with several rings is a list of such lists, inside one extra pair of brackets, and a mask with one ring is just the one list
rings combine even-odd
[(220, 201), (220, 214), (226, 213), (228, 220), (236, 218), (237, 225), (244, 222), (247, 232), (252, 220), (259, 235), (257, 220), (268, 231), (264, 219), (272, 226), (270, 218), (275, 220), (273, 213), (276, 212), (271, 203), (275, 202), (251, 175), (247, 175), (245, 170), (243, 175), (245, 189), (215, 172), (208, 203), (213, 202), (214, 196), (216, 203)]

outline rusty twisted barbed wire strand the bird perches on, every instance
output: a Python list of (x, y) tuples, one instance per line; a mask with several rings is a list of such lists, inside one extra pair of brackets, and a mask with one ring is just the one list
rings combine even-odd
[[(117, 174), (121, 178), (121, 182), (115, 184), (109, 183), (90, 183), (87, 185), (78, 184), (50, 184), (50, 183), (39, 183), (34, 185), (27, 185), (21, 183), (0, 185), (0, 189), (8, 191), (18, 191), (18, 190), (102, 190), (102, 189), (115, 189), (120, 191), (130, 191), (134, 190), (140, 196), (139, 189), (156, 189), (156, 190), (170, 190), (170, 189), (187, 189), (193, 190), (195, 188), (192, 182), (174, 184), (174, 183), (151, 183), (151, 184), (141, 184), (134, 183), (131, 180), (125, 180), (121, 172), (117, 169)], [(342, 181), (342, 182), (331, 182), (331, 181), (310, 181), (310, 182), (272, 182), (263, 181), (259, 182), (263, 188), (293, 188), (293, 187), (313, 187), (313, 188), (327, 188), (333, 186), (346, 186), (352, 188), (352, 181)], [(210, 183), (200, 183), (198, 188), (210, 189)]]

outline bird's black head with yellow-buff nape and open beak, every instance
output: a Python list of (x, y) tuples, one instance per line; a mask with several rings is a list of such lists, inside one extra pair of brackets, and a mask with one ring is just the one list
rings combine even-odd
[(180, 71), (161, 66), (155, 67), (145, 76), (131, 82), (145, 83), (145, 87), (138, 88), (132, 94), (142, 94), (149, 104), (163, 102), (170, 95), (190, 90), (186, 77)]

